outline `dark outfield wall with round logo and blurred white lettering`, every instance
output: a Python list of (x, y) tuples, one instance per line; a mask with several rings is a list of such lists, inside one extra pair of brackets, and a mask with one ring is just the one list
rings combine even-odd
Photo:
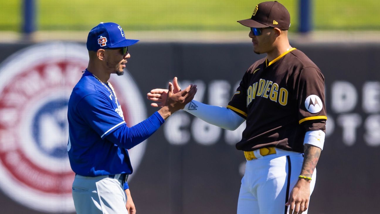
[[(292, 45), (326, 79), (327, 138), (309, 214), (377, 213), (380, 45)], [(0, 213), (72, 213), (65, 114), (87, 65), (85, 46), (0, 47)], [(128, 125), (157, 110), (146, 93), (166, 88), (174, 76), (182, 86), (198, 85), (198, 101), (226, 106), (245, 70), (264, 57), (249, 42), (141, 42), (129, 51), (129, 74), (110, 80)], [(242, 129), (225, 131), (186, 112), (172, 115), (130, 151), (135, 171), (128, 181), (138, 213), (236, 213), (245, 159), (234, 144)]]

